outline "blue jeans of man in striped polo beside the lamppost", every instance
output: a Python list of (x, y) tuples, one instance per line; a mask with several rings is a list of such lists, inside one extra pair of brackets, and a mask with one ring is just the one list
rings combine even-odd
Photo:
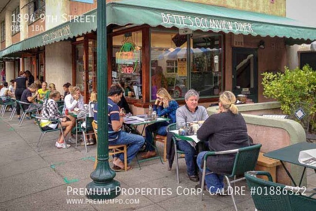
[[(114, 141), (109, 141), (109, 145), (127, 145), (127, 164), (129, 164), (132, 159), (136, 156), (140, 147), (144, 145), (145, 139), (141, 135), (137, 134), (128, 134), (126, 132), (120, 131), (118, 138)], [(124, 154), (116, 154), (116, 157), (119, 157), (122, 162), (124, 162)]]

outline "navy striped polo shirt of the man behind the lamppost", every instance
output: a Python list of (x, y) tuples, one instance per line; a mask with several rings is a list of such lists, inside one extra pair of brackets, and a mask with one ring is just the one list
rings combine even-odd
[[(120, 108), (119, 106), (113, 102), (110, 98), (107, 98), (107, 115), (108, 115), (108, 141), (114, 141), (118, 138), (118, 132), (114, 131), (112, 128), (112, 121), (120, 121)], [(93, 108), (93, 119), (97, 123), (98, 122), (98, 103), (94, 104)]]

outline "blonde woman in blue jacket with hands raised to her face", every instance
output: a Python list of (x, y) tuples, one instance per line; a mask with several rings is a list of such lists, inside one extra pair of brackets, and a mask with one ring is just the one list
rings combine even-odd
[(170, 96), (165, 88), (158, 89), (156, 96), (157, 99), (153, 111), (156, 111), (158, 116), (166, 116), (170, 120), (167, 122), (157, 122), (146, 127), (146, 148), (148, 152), (143, 154), (141, 156), (142, 158), (153, 157), (156, 155), (153, 133), (166, 135), (167, 126), (176, 122), (176, 109), (179, 108), (176, 100)]

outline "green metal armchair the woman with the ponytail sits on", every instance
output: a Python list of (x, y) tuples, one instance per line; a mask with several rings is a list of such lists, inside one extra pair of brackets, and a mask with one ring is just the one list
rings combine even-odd
[[(236, 182), (242, 181), (246, 179), (244, 174), (248, 171), (254, 171), (258, 156), (260, 153), (261, 144), (252, 145), (249, 147), (243, 147), (235, 150), (227, 150), (221, 152), (208, 152), (204, 155), (204, 162), (203, 162), (203, 173), (202, 173), (202, 185), (201, 188), (204, 190), (204, 183), (205, 183), (205, 174), (206, 174), (206, 161), (208, 156), (218, 155), (218, 154), (229, 154), (229, 153), (236, 153), (234, 166), (230, 175), (224, 175), (228, 184), (228, 190), (232, 190), (232, 185)], [(237, 176), (243, 176), (239, 179), (236, 179)], [(229, 178), (233, 178), (233, 180), (229, 180)], [(237, 211), (237, 206), (234, 198), (234, 194), (230, 194), (232, 201), (234, 203), (235, 210)], [(201, 201), (203, 200), (203, 192), (200, 195)]]

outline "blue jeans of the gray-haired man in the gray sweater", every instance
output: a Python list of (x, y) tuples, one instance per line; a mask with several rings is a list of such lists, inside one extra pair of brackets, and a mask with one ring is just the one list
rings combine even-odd
[(176, 147), (178, 150), (181, 150), (185, 153), (185, 164), (187, 164), (187, 172), (190, 176), (196, 175), (195, 172), (195, 149), (189, 142), (184, 140), (177, 140)]

